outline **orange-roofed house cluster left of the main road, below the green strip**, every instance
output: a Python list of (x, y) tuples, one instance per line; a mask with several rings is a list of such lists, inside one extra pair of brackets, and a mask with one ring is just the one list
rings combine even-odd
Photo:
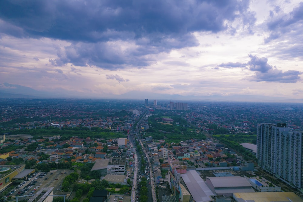
[[(71, 158), (72, 162), (87, 163), (95, 162), (97, 159), (104, 159), (107, 157), (107, 153), (115, 152), (119, 147), (127, 148), (126, 138), (104, 141), (104, 139), (101, 138), (93, 140), (90, 137), (87, 137), (86, 139), (71, 137), (68, 140), (55, 141), (55, 139), (58, 140), (58, 138), (60, 138), (60, 136), (54, 136), (52, 140), (49, 141), (46, 141), (45, 139), (24, 139), (14, 140), (14, 142), (7, 141), (2, 145), (2, 147), (11, 144), (24, 145), (24, 147), (8, 153), (0, 154), (0, 158), (2, 161), (7, 157), (22, 158), (24, 161), (35, 160), (36, 163), (58, 163), (61, 160)], [(34, 142), (38, 143), (38, 147), (34, 151), (28, 151), (27, 146)], [(42, 160), (41, 155), (38, 155), (41, 153), (48, 154), (50, 157), (47, 160)]]

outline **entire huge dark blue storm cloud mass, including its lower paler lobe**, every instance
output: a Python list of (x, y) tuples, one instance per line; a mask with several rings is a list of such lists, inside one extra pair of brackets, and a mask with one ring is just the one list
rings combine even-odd
[[(192, 35), (195, 31), (231, 30), (234, 28), (226, 22), (239, 18), (250, 27), (255, 16), (248, 6), (249, 1), (236, 0), (2, 0), (0, 23), (5, 26), (0, 26), (0, 32), (20, 38), (70, 41), (72, 45), (65, 47), (65, 52), (50, 59), (54, 66), (70, 62), (106, 69), (140, 67), (155, 61), (151, 54), (197, 46)], [(136, 48), (122, 51), (119, 45), (107, 44), (114, 41), (129, 42)], [(85, 47), (91, 44), (96, 45)]]

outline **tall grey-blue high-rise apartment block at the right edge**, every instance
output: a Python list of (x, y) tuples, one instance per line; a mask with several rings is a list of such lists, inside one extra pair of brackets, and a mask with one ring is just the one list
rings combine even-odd
[(259, 124), (257, 159), (264, 170), (303, 192), (302, 131), (293, 131), (286, 123)]

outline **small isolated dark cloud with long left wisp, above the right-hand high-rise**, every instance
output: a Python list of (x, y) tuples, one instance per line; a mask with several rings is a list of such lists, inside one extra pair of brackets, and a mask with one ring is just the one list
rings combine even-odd
[(257, 57), (251, 54), (248, 55), (250, 61), (247, 63), (241, 62), (228, 62), (222, 63), (217, 67), (224, 68), (248, 68), (250, 71), (255, 72), (254, 76), (251, 76), (249, 80), (251, 81), (266, 81), (266, 82), (280, 82), (280, 83), (295, 83), (300, 80), (300, 76), (303, 72), (296, 70), (288, 70), (283, 72), (278, 70), (275, 66), (271, 66), (267, 63), (268, 59), (265, 57)]

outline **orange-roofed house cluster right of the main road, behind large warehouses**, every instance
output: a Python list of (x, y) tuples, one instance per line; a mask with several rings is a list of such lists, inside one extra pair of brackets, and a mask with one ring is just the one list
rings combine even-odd
[(186, 140), (176, 143), (152, 142), (151, 137), (145, 139), (145, 145), (153, 157), (155, 166), (163, 162), (162, 168), (169, 167), (170, 160), (180, 161), (187, 168), (198, 167), (246, 167), (242, 156), (227, 149), (221, 143), (211, 140)]

